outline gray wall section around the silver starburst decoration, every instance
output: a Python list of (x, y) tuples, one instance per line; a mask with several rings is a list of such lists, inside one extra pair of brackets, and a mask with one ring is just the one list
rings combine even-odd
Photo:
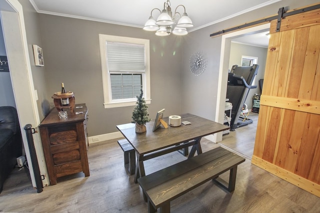
[[(215, 118), (221, 38), (211, 39), (208, 27), (189, 33), (183, 45), (182, 112), (189, 112), (210, 120)], [(196, 52), (206, 58), (202, 75), (190, 72), (189, 58)]]

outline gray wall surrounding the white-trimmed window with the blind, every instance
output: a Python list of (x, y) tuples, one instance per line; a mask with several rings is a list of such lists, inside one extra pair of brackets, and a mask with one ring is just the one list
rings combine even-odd
[[(150, 40), (150, 118), (165, 108), (165, 115), (181, 113), (182, 40), (158, 37), (141, 28), (39, 14), (39, 27), (48, 94), (65, 89), (74, 93), (76, 103), (88, 107), (89, 136), (116, 132), (116, 125), (131, 122), (131, 107), (105, 109), (103, 106), (99, 33)], [(173, 55), (173, 52), (175, 54)]]

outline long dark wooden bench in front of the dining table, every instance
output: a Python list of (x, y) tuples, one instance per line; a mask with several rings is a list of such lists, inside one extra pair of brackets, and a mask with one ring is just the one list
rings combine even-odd
[[(146, 196), (148, 212), (170, 212), (170, 201), (213, 180), (229, 192), (234, 191), (237, 165), (245, 159), (221, 147), (204, 152), (155, 173), (138, 179), (143, 196)], [(230, 170), (229, 182), (219, 175)]]

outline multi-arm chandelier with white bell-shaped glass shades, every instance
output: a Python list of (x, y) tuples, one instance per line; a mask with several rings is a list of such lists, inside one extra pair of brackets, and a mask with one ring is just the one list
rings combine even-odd
[[(171, 34), (171, 32), (174, 35), (186, 35), (188, 32), (186, 31), (187, 27), (192, 27), (192, 21), (188, 17), (188, 15), (185, 12), (185, 7), (180, 4), (175, 7), (174, 13), (172, 15), (171, 11), (171, 4), (170, 0), (166, 0), (166, 2), (163, 3), (163, 10), (161, 12), (158, 8), (153, 8), (151, 10), (151, 15), (149, 19), (145, 22), (143, 29), (146, 31), (156, 31), (155, 34), (158, 36), (166, 36)], [(182, 15), (176, 11), (176, 9), (182, 6), (184, 9), (184, 12)], [(156, 21), (152, 16), (153, 10), (159, 10), (160, 15), (157, 17)], [(177, 23), (176, 23), (177, 21)], [(173, 25), (175, 27), (172, 30)]]

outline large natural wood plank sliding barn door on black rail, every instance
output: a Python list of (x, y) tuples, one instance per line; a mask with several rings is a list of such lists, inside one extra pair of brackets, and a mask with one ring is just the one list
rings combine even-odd
[(252, 164), (320, 197), (320, 10), (271, 23)]

